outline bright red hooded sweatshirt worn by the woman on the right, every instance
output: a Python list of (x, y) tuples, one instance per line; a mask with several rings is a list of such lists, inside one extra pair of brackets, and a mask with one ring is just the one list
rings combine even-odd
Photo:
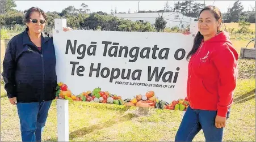
[(225, 32), (202, 41), (188, 64), (187, 97), (192, 109), (226, 117), (233, 103), (238, 53)]

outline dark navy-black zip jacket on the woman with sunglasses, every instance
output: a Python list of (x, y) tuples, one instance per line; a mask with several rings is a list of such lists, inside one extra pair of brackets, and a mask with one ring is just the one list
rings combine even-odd
[(41, 34), (41, 51), (27, 33), (11, 38), (3, 60), (3, 80), (9, 98), (18, 102), (41, 102), (55, 98), (56, 57), (52, 35)]

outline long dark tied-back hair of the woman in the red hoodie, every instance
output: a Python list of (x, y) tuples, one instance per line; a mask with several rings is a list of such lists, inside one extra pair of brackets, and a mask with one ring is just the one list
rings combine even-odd
[[(211, 11), (213, 14), (214, 14), (214, 17), (216, 20), (219, 20), (219, 19), (222, 19), (222, 16), (221, 16), (221, 12), (220, 12), (220, 9), (217, 8), (216, 6), (207, 6), (207, 7), (204, 7), (199, 15), (204, 11), (204, 10), (209, 10)], [(217, 32), (220, 31), (220, 27), (217, 28)], [(191, 49), (191, 51), (187, 54), (187, 60), (193, 55), (196, 53), (196, 51), (198, 50), (202, 40), (203, 40), (203, 35), (198, 31), (198, 33), (196, 34), (195, 38), (194, 38), (194, 44), (193, 44), (193, 47)]]

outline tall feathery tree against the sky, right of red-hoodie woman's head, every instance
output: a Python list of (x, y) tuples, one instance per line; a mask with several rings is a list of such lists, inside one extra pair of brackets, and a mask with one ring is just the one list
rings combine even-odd
[(236, 1), (234, 2), (233, 7), (228, 9), (226, 18), (228, 18), (230, 22), (237, 22), (242, 14), (242, 10), (244, 10), (244, 7), (242, 6), (241, 2)]

